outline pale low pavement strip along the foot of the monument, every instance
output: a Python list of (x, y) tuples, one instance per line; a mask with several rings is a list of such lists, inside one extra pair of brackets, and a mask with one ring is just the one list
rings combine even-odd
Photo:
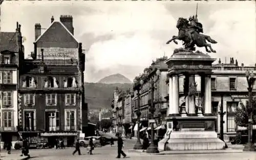
[(168, 154), (209, 154), (209, 153), (242, 153), (242, 149), (224, 149), (224, 150), (180, 150), (180, 151), (160, 151), (159, 153), (146, 153), (143, 150), (129, 149), (129, 153), (138, 153), (144, 155), (168, 155)]

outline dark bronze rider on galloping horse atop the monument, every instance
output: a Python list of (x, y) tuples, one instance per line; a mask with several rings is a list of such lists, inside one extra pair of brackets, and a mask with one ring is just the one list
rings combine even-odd
[[(211, 39), (210, 36), (201, 34), (203, 33), (203, 25), (198, 22), (197, 14), (196, 16), (190, 16), (188, 20), (180, 17), (177, 21), (176, 28), (179, 30), (178, 36), (173, 36), (166, 44), (172, 41), (178, 44), (176, 40), (181, 40), (183, 41), (185, 50), (194, 51), (196, 50), (195, 45), (197, 45), (198, 47), (205, 47), (207, 52), (216, 52), (216, 50), (212, 49), (210, 43), (215, 44), (217, 42)], [(207, 47), (209, 47), (210, 50), (208, 50)]]

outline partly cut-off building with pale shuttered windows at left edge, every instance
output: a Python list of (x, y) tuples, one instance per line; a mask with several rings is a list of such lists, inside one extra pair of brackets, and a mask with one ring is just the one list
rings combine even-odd
[(18, 131), (18, 78), (21, 68), (20, 59), (24, 58), (21, 25), (16, 32), (0, 33), (0, 131), (1, 148), (17, 140)]

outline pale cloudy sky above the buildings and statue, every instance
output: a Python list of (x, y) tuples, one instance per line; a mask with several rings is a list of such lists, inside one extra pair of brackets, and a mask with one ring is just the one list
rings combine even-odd
[[(116, 73), (134, 79), (152, 60), (170, 57), (182, 42), (166, 44), (178, 35), (179, 17), (196, 14), (195, 2), (181, 1), (11, 1), (1, 5), (1, 32), (22, 25), (25, 55), (33, 51), (34, 25), (50, 26), (51, 17), (72, 15), (74, 36), (86, 49), (86, 82)], [(229, 63), (230, 57), (251, 66), (256, 63), (255, 2), (198, 3), (204, 34), (215, 39), (212, 58)], [(42, 30), (44, 32), (44, 30)], [(204, 51), (204, 48), (198, 48)]]

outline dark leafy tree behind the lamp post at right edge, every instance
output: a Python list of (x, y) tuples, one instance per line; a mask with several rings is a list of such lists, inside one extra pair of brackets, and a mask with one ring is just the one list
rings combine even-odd
[[(250, 108), (248, 101), (246, 101), (246, 105), (244, 105), (243, 102), (240, 102), (240, 104), (241, 104), (241, 108), (237, 108), (234, 121), (239, 126), (247, 127), (250, 113), (253, 111), (252, 109), (254, 109), (254, 115), (255, 115), (256, 98), (252, 99), (251, 101), (252, 109)], [(255, 122), (255, 118), (254, 118), (254, 122)]]

